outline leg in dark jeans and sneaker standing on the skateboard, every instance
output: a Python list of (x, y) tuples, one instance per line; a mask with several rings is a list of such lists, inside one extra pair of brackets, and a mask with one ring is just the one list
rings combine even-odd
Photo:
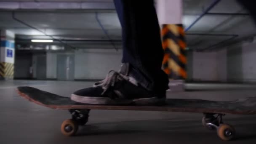
[(94, 87), (71, 95), (87, 104), (159, 104), (168, 76), (161, 69), (163, 48), (153, 0), (115, 0), (123, 31), (123, 66)]

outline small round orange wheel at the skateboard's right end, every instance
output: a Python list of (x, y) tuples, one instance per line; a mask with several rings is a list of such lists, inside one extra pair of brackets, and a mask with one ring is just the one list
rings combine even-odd
[(231, 125), (221, 124), (218, 127), (217, 133), (222, 140), (229, 141), (235, 137), (235, 128)]

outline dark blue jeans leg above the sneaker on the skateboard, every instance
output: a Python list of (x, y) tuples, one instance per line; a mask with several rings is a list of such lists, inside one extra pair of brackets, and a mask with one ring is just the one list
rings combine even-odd
[(168, 89), (154, 0), (114, 0), (122, 26), (123, 59), (130, 75), (149, 91)]

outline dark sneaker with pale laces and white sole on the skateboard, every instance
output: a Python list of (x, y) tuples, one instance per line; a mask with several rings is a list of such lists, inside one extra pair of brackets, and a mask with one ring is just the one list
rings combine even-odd
[(165, 104), (166, 94), (148, 91), (137, 81), (121, 72), (110, 71), (104, 80), (90, 88), (74, 92), (71, 99), (84, 104), (155, 105)]

